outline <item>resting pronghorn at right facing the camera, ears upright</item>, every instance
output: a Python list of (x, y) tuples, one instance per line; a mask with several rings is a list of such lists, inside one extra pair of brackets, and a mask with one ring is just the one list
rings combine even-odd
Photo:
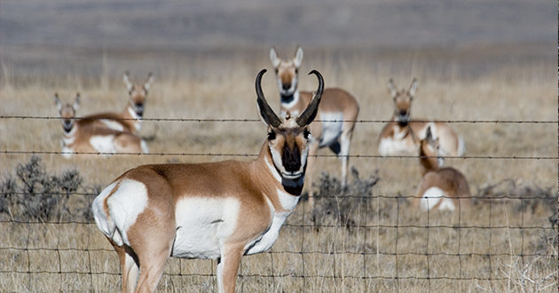
[(464, 141), (447, 123), (428, 123), (410, 120), (412, 101), (417, 91), (417, 79), (413, 78), (410, 88), (397, 90), (390, 79), (390, 95), (394, 99), (394, 114), (391, 123), (384, 125), (378, 139), (380, 155), (414, 155), (425, 131), (430, 126), (433, 134), (440, 139), (443, 155), (464, 155)]

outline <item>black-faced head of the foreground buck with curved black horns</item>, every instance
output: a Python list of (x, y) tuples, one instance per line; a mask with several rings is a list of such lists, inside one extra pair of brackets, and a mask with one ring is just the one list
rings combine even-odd
[(309, 139), (311, 131), (309, 124), (314, 120), (319, 109), (319, 102), (324, 90), (324, 80), (318, 71), (312, 70), (309, 74), (319, 78), (319, 89), (309, 106), (301, 115), (279, 118), (272, 107), (264, 98), (261, 80), (266, 69), (261, 70), (256, 76), (256, 102), (262, 121), (268, 126), (268, 147), (272, 154), (273, 164), (282, 178), (298, 179), (304, 175)]

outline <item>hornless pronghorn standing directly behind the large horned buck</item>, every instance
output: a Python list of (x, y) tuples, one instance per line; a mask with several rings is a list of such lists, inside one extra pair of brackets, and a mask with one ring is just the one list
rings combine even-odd
[[(303, 49), (297, 47), (293, 59), (279, 59), (275, 48), (270, 49), (270, 60), (275, 68), (281, 99), (282, 115), (297, 115), (312, 98), (311, 91), (297, 88), (299, 67), (303, 61)], [(338, 88), (324, 90), (320, 102), (318, 120), (311, 123), (312, 139), (309, 147), (307, 186), (309, 202), (312, 198), (312, 165), (319, 148), (329, 147), (342, 161), (342, 186), (347, 183), (350, 142), (359, 113), (358, 102), (347, 91)]]

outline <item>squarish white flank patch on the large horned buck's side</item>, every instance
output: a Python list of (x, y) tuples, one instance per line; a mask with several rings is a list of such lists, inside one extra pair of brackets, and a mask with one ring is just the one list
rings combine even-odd
[(217, 258), (220, 243), (235, 231), (240, 202), (233, 197), (187, 197), (177, 202), (173, 257)]

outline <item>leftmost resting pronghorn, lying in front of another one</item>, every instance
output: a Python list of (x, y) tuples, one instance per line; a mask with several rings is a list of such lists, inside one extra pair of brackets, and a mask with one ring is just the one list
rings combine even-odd
[(146, 142), (126, 131), (114, 131), (98, 127), (94, 120), (75, 119), (75, 111), (80, 104), (80, 94), (76, 94), (73, 104), (62, 104), (58, 94), (54, 94), (56, 107), (62, 118), (64, 138), (61, 141), (62, 155), (70, 158), (74, 153), (147, 153)]

